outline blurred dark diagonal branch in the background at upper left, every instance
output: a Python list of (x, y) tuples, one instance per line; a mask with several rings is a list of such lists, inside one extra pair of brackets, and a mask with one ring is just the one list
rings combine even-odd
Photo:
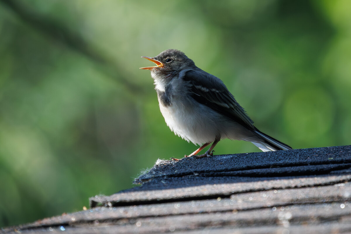
[(89, 44), (81, 35), (73, 32), (65, 25), (60, 24), (57, 20), (41, 14), (40, 12), (35, 12), (30, 6), (24, 5), (18, 0), (0, 0), (0, 2), (8, 8), (11, 8), (26, 24), (86, 56), (92, 60), (94, 64), (98, 64), (97, 67), (101, 72), (112, 78), (113, 81), (124, 85), (128, 91), (133, 93), (144, 91), (142, 87), (131, 83), (127, 79), (128, 74), (126, 74), (118, 63), (113, 62), (112, 58), (103, 55), (103, 53), (99, 52), (95, 46)]

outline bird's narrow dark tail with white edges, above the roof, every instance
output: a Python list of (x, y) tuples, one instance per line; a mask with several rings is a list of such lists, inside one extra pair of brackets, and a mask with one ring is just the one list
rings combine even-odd
[(292, 149), (290, 146), (284, 144), (277, 139), (272, 138), (271, 136), (264, 134), (256, 128), (257, 136), (262, 139), (260, 142), (252, 142), (255, 146), (257, 146), (261, 151), (278, 151), (278, 150), (289, 150)]

